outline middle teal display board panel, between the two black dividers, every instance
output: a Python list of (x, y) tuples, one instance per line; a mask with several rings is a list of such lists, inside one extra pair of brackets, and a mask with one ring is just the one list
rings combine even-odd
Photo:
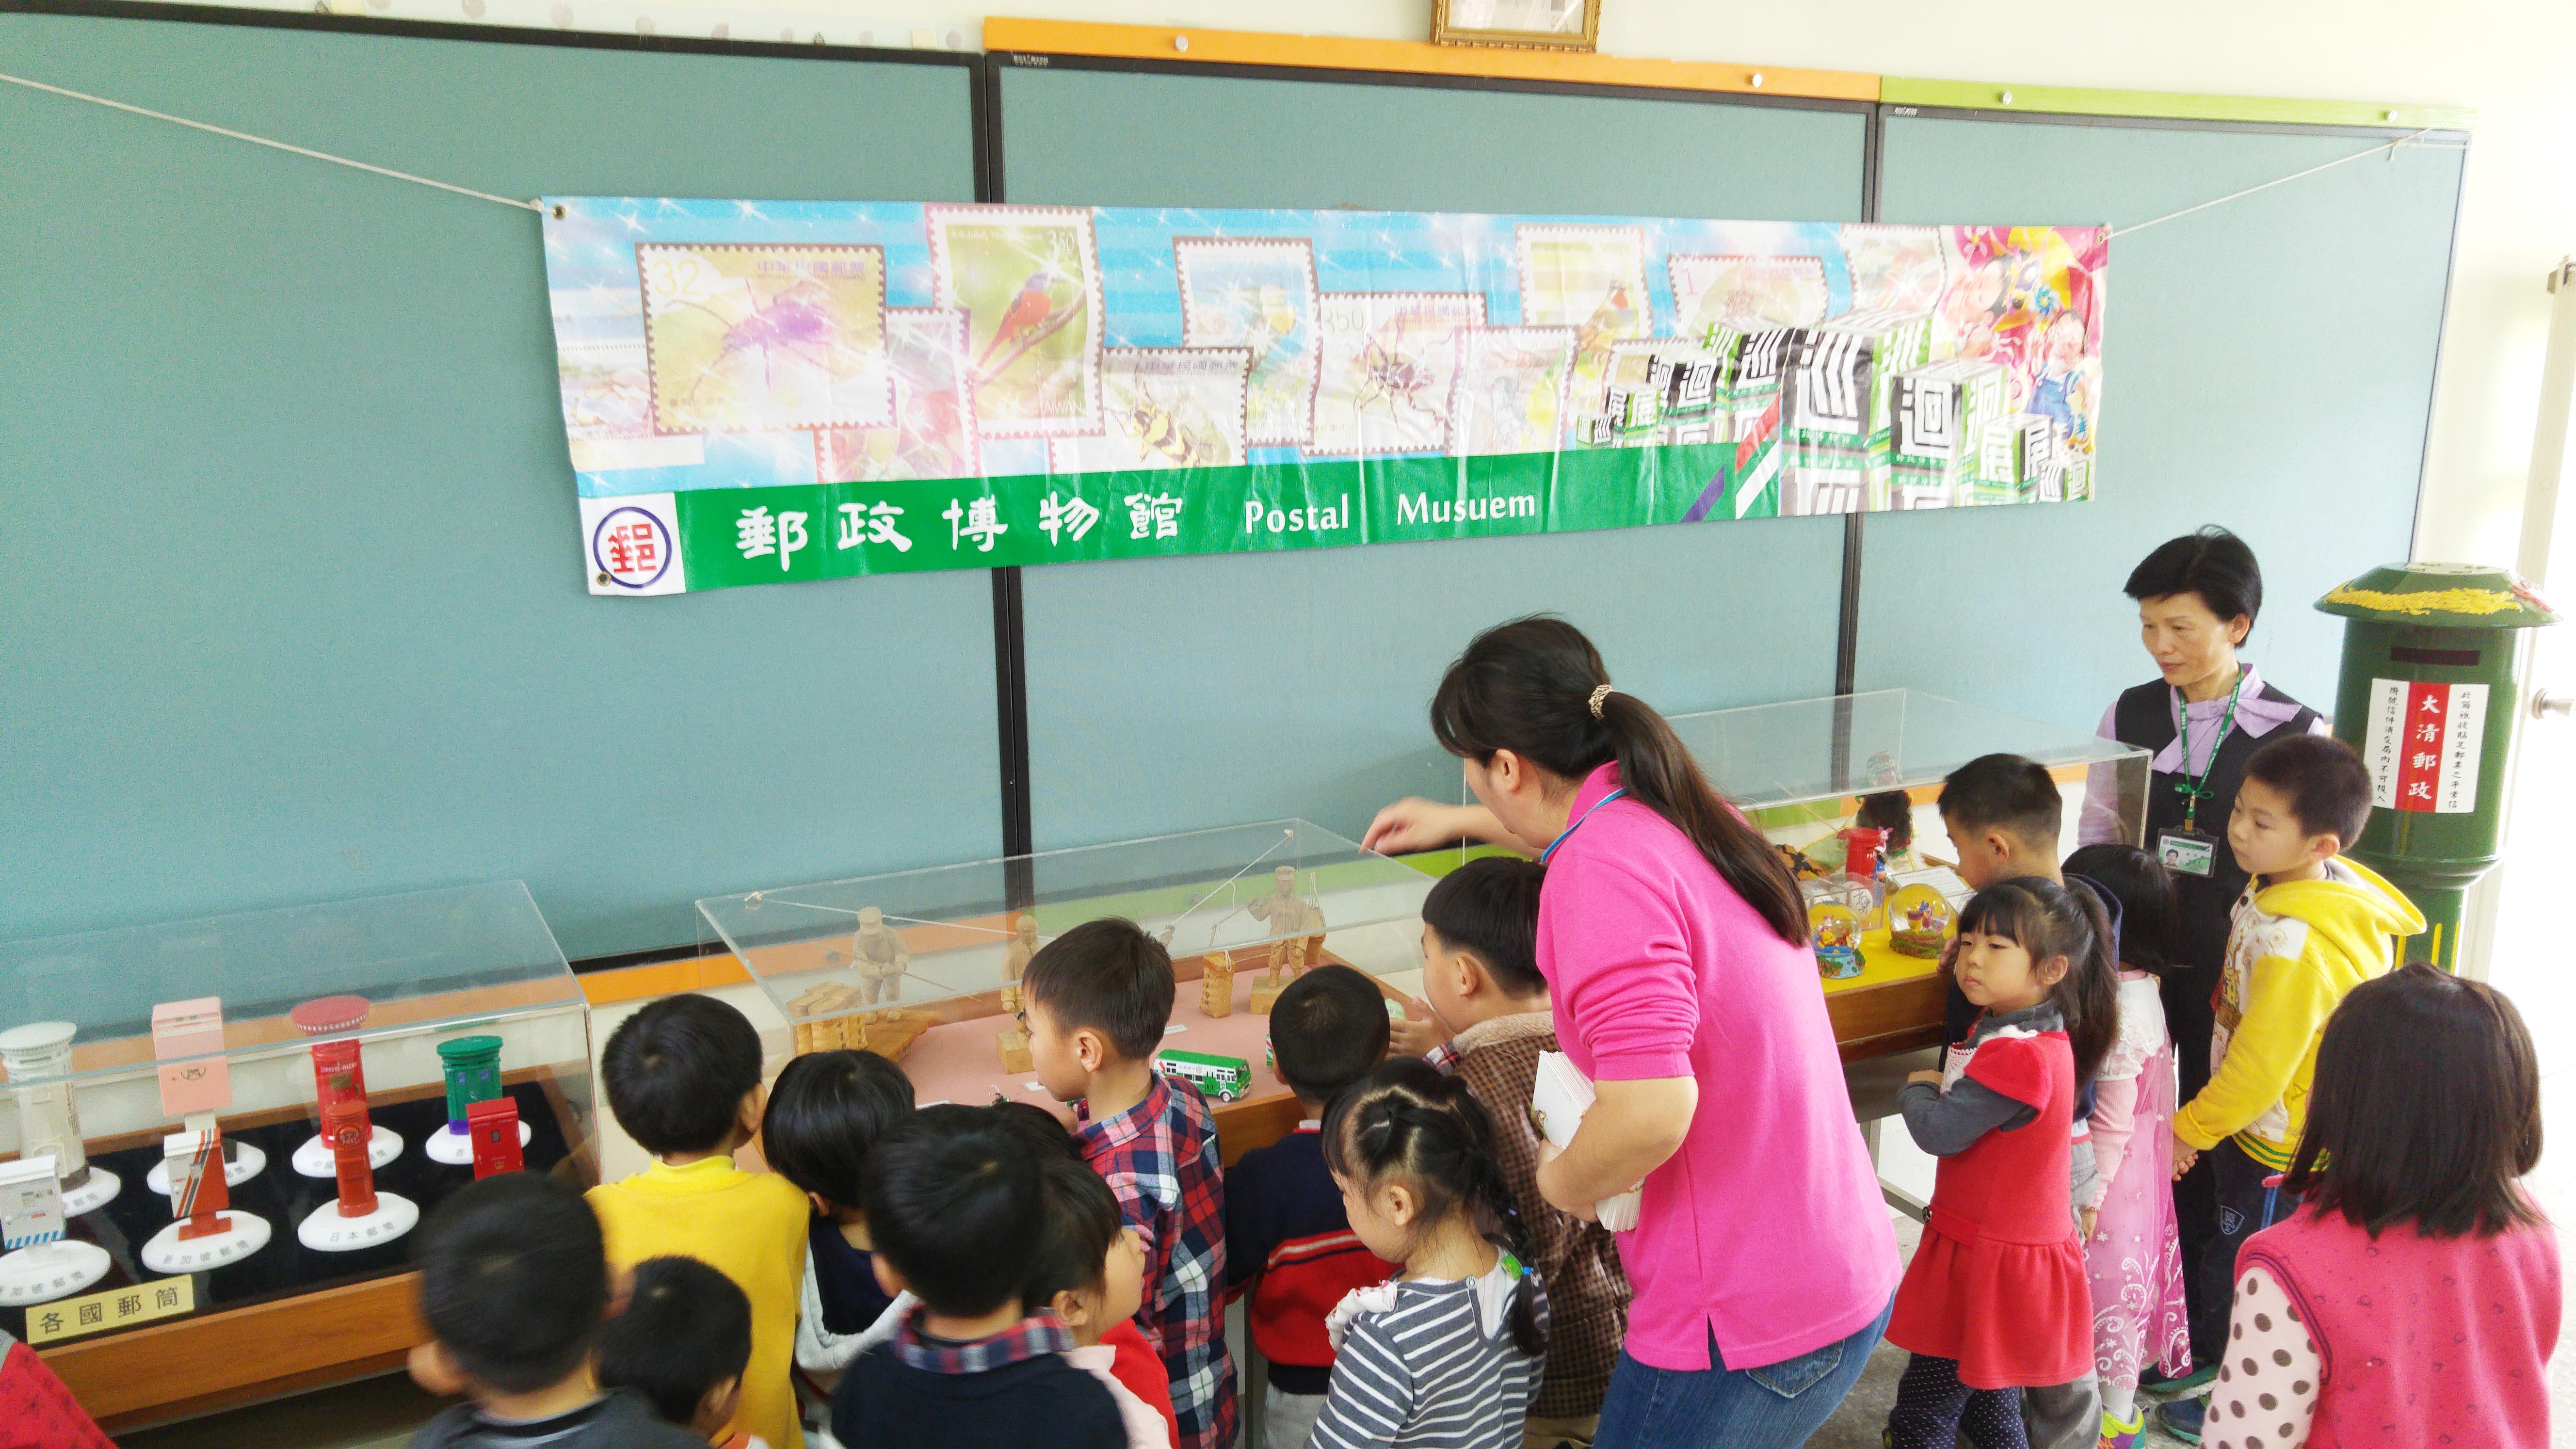
[[(1852, 222), (1865, 119), (1425, 85), (994, 72), (1007, 201)], [(1685, 162), (1687, 157), (1687, 162)], [(1425, 709), (1468, 637), (1582, 624), (1662, 709), (1834, 683), (1842, 518), (1028, 570), (1038, 848), (1455, 797)]]

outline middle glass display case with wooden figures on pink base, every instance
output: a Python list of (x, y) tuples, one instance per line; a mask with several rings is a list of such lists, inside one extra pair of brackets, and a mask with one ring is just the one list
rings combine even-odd
[(1283, 1093), (1267, 1011), (1301, 969), (1419, 969), (1430, 877), (1306, 820), (1270, 820), (698, 902), (778, 1006), (773, 1057), (863, 1047), (920, 1104), (1054, 1104), (1028, 1062), (1020, 975), (1051, 938), (1123, 915), (1172, 951), (1164, 1070), (1213, 1101)]

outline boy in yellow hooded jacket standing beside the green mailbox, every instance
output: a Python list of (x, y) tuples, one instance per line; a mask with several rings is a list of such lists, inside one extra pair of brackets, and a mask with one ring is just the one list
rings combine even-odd
[[(2331, 735), (2282, 735), (2246, 761), (2228, 848), (2254, 879), (2228, 926), (2210, 1080), (2174, 1111), (2174, 1176), (2208, 1152), (2218, 1189), (2218, 1240), (2184, 1266), (2208, 1289), (2192, 1315), (2195, 1364), (2226, 1354), (2236, 1248), (2298, 1207), (2267, 1181), (2298, 1150), (2326, 1018), (2424, 931), (2396, 887), (2342, 859), (2367, 820), (2370, 771)], [(2197, 1400), (2166, 1408), (2197, 1431)]]

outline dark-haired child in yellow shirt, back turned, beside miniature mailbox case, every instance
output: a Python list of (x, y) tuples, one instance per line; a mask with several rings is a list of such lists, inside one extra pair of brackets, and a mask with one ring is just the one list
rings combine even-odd
[(732, 1431), (804, 1449), (788, 1364), (804, 1287), (806, 1196), (734, 1165), (760, 1129), (760, 1034), (711, 995), (670, 995), (629, 1016), (600, 1052), (608, 1111), (654, 1165), (590, 1189), (608, 1266), (683, 1256), (752, 1299), (752, 1361)]

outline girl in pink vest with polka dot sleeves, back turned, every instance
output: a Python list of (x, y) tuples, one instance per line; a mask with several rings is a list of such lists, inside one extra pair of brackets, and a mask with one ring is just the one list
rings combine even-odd
[(2236, 1258), (2205, 1441), (2543, 1449), (2558, 1238), (2519, 1186), (2537, 1160), (2514, 1003), (2427, 964), (2354, 987), (2282, 1181), (2303, 1207)]

